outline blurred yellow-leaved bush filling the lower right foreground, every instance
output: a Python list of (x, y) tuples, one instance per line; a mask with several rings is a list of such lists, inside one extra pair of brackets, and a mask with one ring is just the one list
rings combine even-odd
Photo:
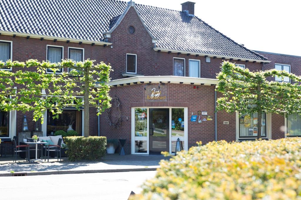
[(132, 199), (301, 199), (301, 138), (198, 144)]

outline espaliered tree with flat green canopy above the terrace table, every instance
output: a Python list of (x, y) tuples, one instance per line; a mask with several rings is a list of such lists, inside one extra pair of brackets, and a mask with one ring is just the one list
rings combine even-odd
[[(60, 63), (39, 62), (0, 62), (0, 68), (22, 67), (16, 72), (0, 70), (0, 110), (33, 111), (33, 119), (41, 119), (47, 109), (54, 117), (62, 113), (64, 107), (84, 107), (84, 136), (89, 136), (89, 107), (97, 109), (100, 115), (110, 107), (110, 65), (92, 60), (74, 62), (70, 59)], [(70, 72), (55, 73), (62, 68)], [(27, 69), (27, 70), (26, 70)], [(46, 73), (50, 69), (53, 73)], [(71, 70), (72, 69), (72, 70)], [(96, 88), (96, 85), (98, 87)], [(17, 88), (16, 88), (17, 86)], [(83, 98), (81, 98), (83, 96)]]

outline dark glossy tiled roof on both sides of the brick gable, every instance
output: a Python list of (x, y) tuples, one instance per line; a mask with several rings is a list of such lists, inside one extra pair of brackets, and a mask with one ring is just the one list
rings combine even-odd
[[(104, 41), (127, 7), (116, 0), (1, 0), (0, 31)], [(186, 12), (136, 4), (157, 47), (266, 60)]]

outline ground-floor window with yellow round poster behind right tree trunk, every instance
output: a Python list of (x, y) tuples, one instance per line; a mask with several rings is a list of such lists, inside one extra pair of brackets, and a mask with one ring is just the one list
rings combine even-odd
[[(262, 113), (261, 136), (266, 137), (266, 115)], [(239, 117), (239, 138), (257, 138), (258, 113), (245, 114)]]

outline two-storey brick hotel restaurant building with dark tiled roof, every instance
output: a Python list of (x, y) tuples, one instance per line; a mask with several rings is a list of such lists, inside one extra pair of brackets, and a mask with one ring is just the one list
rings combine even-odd
[[(197, 141), (255, 139), (256, 113), (238, 118), (238, 113), (215, 112), (222, 60), (252, 71), (276, 67), (300, 75), (301, 57), (245, 48), (194, 16), (193, 2), (183, 3), (182, 11), (115, 0), (53, 0), (49, 5), (0, 2), (5, 22), (0, 24), (0, 60), (110, 63), (113, 106), (100, 118), (90, 110), (90, 133), (127, 139), (127, 153), (172, 153), (178, 138), (186, 150)], [(73, 129), (83, 134), (83, 112), (65, 109), (58, 120), (46, 112), (43, 135), (67, 129), (69, 116), (76, 120)], [(0, 138), (17, 136), (24, 114), (0, 114)], [(33, 130), (33, 117), (26, 115)], [(293, 135), (301, 132), (299, 121), (273, 113), (264, 115), (262, 125), (267, 139), (285, 137), (286, 127)]]

